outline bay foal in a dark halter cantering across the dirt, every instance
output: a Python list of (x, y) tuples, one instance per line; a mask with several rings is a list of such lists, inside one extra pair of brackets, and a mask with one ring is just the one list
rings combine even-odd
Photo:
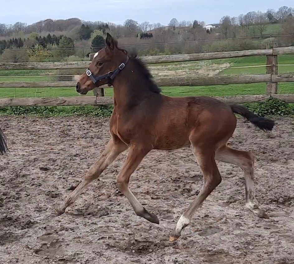
[(110, 118), (111, 139), (100, 158), (91, 166), (83, 181), (56, 210), (64, 213), (83, 190), (126, 149), (129, 153), (117, 176), (120, 191), (126, 196), (135, 213), (153, 223), (159, 223), (129, 188), (130, 175), (152, 149), (173, 150), (192, 147), (203, 172), (203, 187), (176, 224), (170, 241), (176, 240), (192, 219), (206, 197), (221, 183), (216, 160), (235, 164), (243, 169), (246, 183), (246, 206), (258, 217), (268, 218), (258, 208), (254, 198), (254, 155), (231, 149), (226, 145), (236, 127), (234, 113), (243, 115), (262, 130), (272, 130), (274, 121), (258, 117), (240, 105), (228, 105), (206, 96), (172, 98), (160, 94), (147, 68), (107, 34), (106, 47), (97, 52), (86, 72), (76, 85), (80, 94), (94, 87), (112, 84), (114, 110)]

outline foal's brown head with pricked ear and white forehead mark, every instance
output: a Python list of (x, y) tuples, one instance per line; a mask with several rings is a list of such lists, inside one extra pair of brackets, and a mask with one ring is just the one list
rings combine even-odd
[(109, 78), (105, 78), (94, 83), (89, 75), (93, 77), (107, 75), (114, 71), (122, 62), (126, 61), (126, 51), (117, 47), (117, 41), (114, 40), (109, 33), (106, 37), (106, 46), (97, 53), (95, 53), (93, 60), (86, 71), (80, 77), (76, 84), (77, 92), (80, 94), (87, 94), (88, 91), (95, 87), (109, 83)]

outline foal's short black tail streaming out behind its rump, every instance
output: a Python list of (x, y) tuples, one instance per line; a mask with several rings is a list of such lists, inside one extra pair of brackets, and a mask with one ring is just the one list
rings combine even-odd
[(247, 108), (242, 105), (230, 105), (232, 111), (236, 114), (244, 116), (248, 119), (253, 125), (257, 126), (258, 128), (262, 129), (263, 131), (269, 131), (273, 129), (275, 125), (275, 121), (265, 118), (259, 117), (254, 113), (250, 112)]

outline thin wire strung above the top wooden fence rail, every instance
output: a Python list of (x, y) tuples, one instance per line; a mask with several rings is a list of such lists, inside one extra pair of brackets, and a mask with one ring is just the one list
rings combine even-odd
[[(190, 42), (205, 42), (205, 41), (220, 41), (220, 40), (232, 40), (232, 39), (246, 39), (246, 38), (258, 38), (258, 37), (287, 37), (294, 34), (277, 34), (277, 35), (259, 35), (259, 36), (248, 36), (248, 37), (231, 37), (231, 38), (214, 38), (214, 39), (199, 39), (199, 40), (186, 40), (186, 41), (173, 41), (173, 42), (158, 42), (158, 43), (141, 43), (141, 44), (128, 44), (119, 45), (119, 47), (131, 47), (131, 46), (148, 46), (148, 45), (165, 45), (165, 44), (176, 44), (176, 43), (190, 43)], [(104, 48), (105, 46), (99, 47), (67, 47), (67, 48), (26, 48), (26, 49), (0, 49), (0, 51), (29, 51), (29, 50), (66, 50), (66, 49), (97, 49)]]

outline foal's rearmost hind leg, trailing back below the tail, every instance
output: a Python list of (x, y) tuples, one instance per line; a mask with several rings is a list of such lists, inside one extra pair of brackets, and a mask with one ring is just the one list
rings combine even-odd
[(243, 169), (246, 184), (246, 207), (260, 218), (269, 218), (264, 210), (258, 208), (254, 198), (254, 155), (248, 151), (224, 146), (216, 151), (216, 159), (235, 164)]

